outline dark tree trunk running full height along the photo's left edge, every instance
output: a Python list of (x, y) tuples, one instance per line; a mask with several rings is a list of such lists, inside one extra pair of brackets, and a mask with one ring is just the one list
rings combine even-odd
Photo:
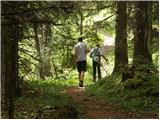
[[(6, 1), (5, 1), (6, 2)], [(11, 3), (9, 3), (11, 4)], [(12, 3), (17, 6), (17, 2)], [(4, 90), (6, 117), (14, 118), (13, 97), (17, 90), (18, 83), (18, 39), (19, 39), (19, 20), (16, 16), (7, 16), (7, 12), (16, 12), (15, 8), (5, 6), (2, 2), (2, 85)], [(13, 22), (14, 21), (14, 22)], [(7, 24), (9, 25), (7, 25)]]

